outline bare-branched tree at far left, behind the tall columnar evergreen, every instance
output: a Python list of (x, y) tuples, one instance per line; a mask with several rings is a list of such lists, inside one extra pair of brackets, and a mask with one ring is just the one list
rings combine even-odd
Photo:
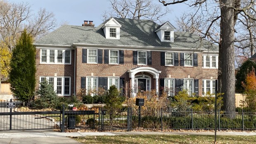
[[(24, 29), (31, 33), (33, 40), (37, 40), (55, 28), (55, 26), (56, 22), (52, 12), (40, 9), (38, 14), (33, 14), (28, 3), (9, 3), (8, 1), (0, 0), (0, 58), (11, 58), (12, 49)], [(9, 52), (3, 52), (6, 49)], [(1, 61), (0, 87), (1, 78), (7, 76), (3, 75), (3, 73), (6, 73), (8, 69), (9, 64)]]

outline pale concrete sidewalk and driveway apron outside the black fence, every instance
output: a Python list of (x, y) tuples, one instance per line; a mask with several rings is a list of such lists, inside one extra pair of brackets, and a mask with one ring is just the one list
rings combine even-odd
[[(12, 130), (0, 132), (0, 144), (79, 144), (70, 137), (104, 135), (214, 135), (214, 132), (53, 132), (52, 130)], [(217, 135), (256, 135), (256, 132), (217, 132)]]

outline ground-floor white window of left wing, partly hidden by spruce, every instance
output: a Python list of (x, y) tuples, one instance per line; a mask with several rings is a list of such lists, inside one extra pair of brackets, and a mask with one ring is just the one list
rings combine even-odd
[(53, 85), (53, 89), (59, 96), (68, 96), (71, 92), (71, 78), (70, 77), (45, 77), (40, 76), (40, 82), (44, 79), (49, 81), (49, 84)]

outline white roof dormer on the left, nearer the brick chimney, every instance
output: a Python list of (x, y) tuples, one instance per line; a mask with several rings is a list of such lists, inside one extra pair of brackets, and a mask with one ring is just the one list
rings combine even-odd
[(116, 19), (111, 18), (109, 21), (107, 21), (106, 24), (102, 26), (102, 29), (105, 33), (106, 39), (120, 39), (120, 27), (122, 25), (119, 24)]

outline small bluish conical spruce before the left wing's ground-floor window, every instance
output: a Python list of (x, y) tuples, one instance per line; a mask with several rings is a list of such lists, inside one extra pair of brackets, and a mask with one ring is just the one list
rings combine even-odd
[(49, 84), (48, 80), (40, 83), (40, 89), (36, 91), (39, 97), (34, 102), (34, 107), (38, 109), (55, 108), (59, 103), (57, 93), (53, 89), (53, 85)]

